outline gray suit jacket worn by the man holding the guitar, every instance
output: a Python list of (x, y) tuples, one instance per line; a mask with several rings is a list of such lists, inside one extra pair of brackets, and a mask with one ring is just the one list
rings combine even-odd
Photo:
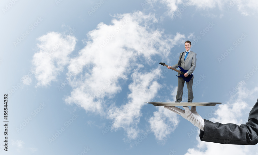
[[(191, 75), (195, 69), (195, 65), (196, 65), (196, 53), (193, 52), (192, 50), (189, 51), (187, 57), (186, 57), (186, 60), (184, 60), (184, 54), (185, 54), (186, 51), (180, 53), (180, 56), (179, 56), (179, 59), (178, 59), (178, 63), (179, 63), (179, 60), (182, 56), (182, 59), (181, 59), (181, 66), (183, 69), (186, 69), (186, 70), (189, 70), (188, 73)], [(173, 68), (178, 68), (178, 63), (175, 64), (174, 66), (171, 66)], [(178, 75), (180, 75), (180, 73), (178, 73)], [(192, 77), (193, 79), (193, 77)]]

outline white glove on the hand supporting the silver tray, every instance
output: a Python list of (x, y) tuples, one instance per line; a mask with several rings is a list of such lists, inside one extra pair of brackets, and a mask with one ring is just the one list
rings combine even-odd
[(187, 106), (183, 106), (184, 110), (175, 106), (164, 106), (164, 108), (181, 115), (183, 118), (191, 122), (194, 126), (204, 131), (204, 119), (197, 113), (196, 106), (192, 106), (191, 110)]

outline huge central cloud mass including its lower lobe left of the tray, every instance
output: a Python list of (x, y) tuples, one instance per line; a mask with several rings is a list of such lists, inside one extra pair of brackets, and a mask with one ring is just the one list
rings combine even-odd
[[(152, 65), (153, 56), (166, 58), (184, 39), (180, 33), (163, 36), (163, 31), (150, 29), (156, 22), (154, 14), (138, 11), (115, 15), (110, 25), (100, 23), (90, 31), (86, 46), (68, 66), (67, 78), (73, 90), (66, 103), (112, 119), (112, 129), (123, 128), (128, 138), (136, 138), (141, 108), (160, 88), (160, 69), (146, 72), (142, 64)], [(122, 91), (124, 81), (131, 80), (128, 102), (115, 106), (112, 99)]]

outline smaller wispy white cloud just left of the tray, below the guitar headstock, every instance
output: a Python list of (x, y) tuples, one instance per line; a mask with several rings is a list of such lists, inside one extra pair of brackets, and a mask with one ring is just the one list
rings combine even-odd
[(132, 74), (133, 82), (129, 85), (128, 103), (121, 107), (111, 106), (108, 118), (113, 120), (112, 129), (124, 128), (127, 137), (135, 139), (138, 136), (137, 128), (141, 117), (141, 108), (151, 100), (161, 87), (156, 81), (160, 77), (160, 69), (148, 73), (135, 72)]

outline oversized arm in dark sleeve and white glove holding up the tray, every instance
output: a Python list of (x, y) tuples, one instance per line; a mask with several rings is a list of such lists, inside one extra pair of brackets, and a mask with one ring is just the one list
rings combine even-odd
[(232, 123), (213, 123), (203, 119), (196, 111), (184, 106), (182, 110), (174, 106), (165, 106), (168, 110), (181, 115), (200, 129), (200, 140), (221, 144), (255, 145), (258, 143), (258, 99), (249, 113), (248, 121), (241, 125)]

